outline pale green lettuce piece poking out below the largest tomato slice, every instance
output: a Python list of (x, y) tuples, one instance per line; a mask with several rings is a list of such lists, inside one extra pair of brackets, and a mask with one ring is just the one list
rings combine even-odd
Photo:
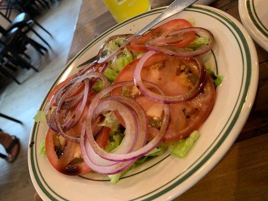
[(193, 147), (194, 142), (198, 139), (200, 133), (198, 131), (194, 131), (188, 138), (170, 142), (168, 144), (168, 151), (171, 155), (184, 158), (188, 151)]

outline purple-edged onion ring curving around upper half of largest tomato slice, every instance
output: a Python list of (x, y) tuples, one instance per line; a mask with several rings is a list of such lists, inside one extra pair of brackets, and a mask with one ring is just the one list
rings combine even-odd
[(144, 85), (141, 79), (141, 70), (146, 60), (154, 54), (156, 54), (156, 52), (153, 52), (153, 51), (146, 52), (144, 56), (137, 63), (135, 71), (134, 71), (135, 85), (142, 92), (142, 94), (144, 94), (148, 98), (155, 100), (156, 102), (163, 103), (163, 104), (183, 103), (194, 98), (200, 92), (200, 90), (204, 87), (205, 81), (206, 81), (206, 68), (202, 60), (196, 57), (193, 59), (195, 59), (198, 63), (199, 77), (198, 77), (196, 85), (188, 93), (185, 93), (183, 95), (167, 96), (167, 95), (158, 94), (149, 90), (148, 88), (146, 88), (146, 86)]

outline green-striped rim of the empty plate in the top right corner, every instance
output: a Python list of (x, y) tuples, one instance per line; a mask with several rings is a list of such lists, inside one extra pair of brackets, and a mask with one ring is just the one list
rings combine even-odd
[[(251, 7), (256, 18), (251, 11)], [(257, 21), (259, 21), (262, 25), (254, 8), (254, 1), (239, 0), (238, 11), (241, 22), (247, 32), (254, 39), (254, 41), (256, 41), (257, 44), (259, 44), (264, 50), (268, 51), (268, 31), (263, 30), (263, 28), (257, 23)], [(262, 26), (264, 27), (264, 25)]]

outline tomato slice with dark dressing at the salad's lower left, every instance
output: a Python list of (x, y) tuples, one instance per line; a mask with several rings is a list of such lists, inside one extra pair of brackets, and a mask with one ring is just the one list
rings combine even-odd
[[(108, 142), (110, 128), (104, 127), (97, 136), (97, 143), (105, 147)], [(62, 147), (55, 145), (55, 137), (60, 138)], [(59, 172), (67, 175), (80, 175), (91, 171), (82, 160), (80, 145), (65, 140), (51, 129), (46, 135), (46, 154), (50, 164)]]

